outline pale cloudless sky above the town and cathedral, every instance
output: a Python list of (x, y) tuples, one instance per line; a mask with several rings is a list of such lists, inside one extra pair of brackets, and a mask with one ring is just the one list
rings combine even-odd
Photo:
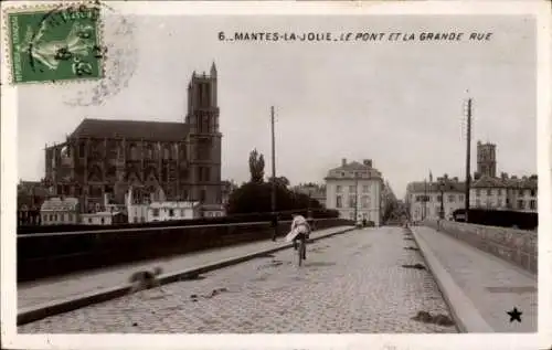
[[(465, 177), (465, 102), (477, 140), (497, 145), (497, 171), (537, 173), (534, 23), (523, 17), (135, 17), (107, 20), (103, 83), (18, 89), (19, 178), (44, 176), (44, 146), (85, 118), (183, 121), (193, 71), (219, 72), (222, 178), (247, 181), (250, 151), (270, 173), (323, 182), (372, 159), (395, 194), (447, 173)], [(224, 31), (492, 32), (486, 42), (221, 42)], [(98, 84), (102, 86), (98, 87)]]

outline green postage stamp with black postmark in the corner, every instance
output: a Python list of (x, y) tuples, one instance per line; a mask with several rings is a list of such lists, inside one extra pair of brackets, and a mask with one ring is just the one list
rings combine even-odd
[(12, 83), (100, 78), (99, 10), (95, 3), (8, 9)]

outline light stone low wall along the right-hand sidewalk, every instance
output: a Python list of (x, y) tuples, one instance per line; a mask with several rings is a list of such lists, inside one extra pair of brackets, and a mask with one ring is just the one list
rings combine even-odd
[(537, 274), (537, 232), (446, 220), (440, 222), (440, 229), (436, 221), (425, 221), (424, 224)]

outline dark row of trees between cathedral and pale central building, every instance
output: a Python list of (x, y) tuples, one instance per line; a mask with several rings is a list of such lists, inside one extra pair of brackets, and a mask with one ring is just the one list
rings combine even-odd
[(250, 153), (248, 182), (243, 183), (232, 192), (229, 199), (227, 213), (269, 213), (272, 212), (273, 182), (276, 182), (276, 205), (278, 212), (312, 210), (314, 214), (323, 212), (325, 216), (338, 216), (337, 211), (325, 210), (319, 201), (305, 193), (294, 192), (288, 189), (289, 180), (286, 177), (272, 177), (265, 181), (265, 159), (254, 149)]

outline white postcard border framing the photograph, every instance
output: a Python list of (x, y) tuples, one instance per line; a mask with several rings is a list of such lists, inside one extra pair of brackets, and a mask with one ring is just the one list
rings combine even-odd
[[(1, 336), (3, 348), (19, 349), (543, 349), (552, 344), (552, 197), (551, 197), (551, 45), (546, 1), (425, 2), (112, 2), (125, 14), (532, 14), (538, 20), (538, 172), (539, 172), (539, 332), (533, 335), (17, 335), (15, 203), (17, 87), (1, 66)], [(7, 2), (21, 6), (23, 1)], [(28, 1), (36, 4), (36, 1)], [(59, 3), (49, 1), (47, 3)], [(2, 23), (4, 24), (4, 23)], [(2, 41), (2, 52), (7, 52)], [(52, 85), (45, 85), (52, 88)], [(15, 145), (15, 147), (14, 147)]]

